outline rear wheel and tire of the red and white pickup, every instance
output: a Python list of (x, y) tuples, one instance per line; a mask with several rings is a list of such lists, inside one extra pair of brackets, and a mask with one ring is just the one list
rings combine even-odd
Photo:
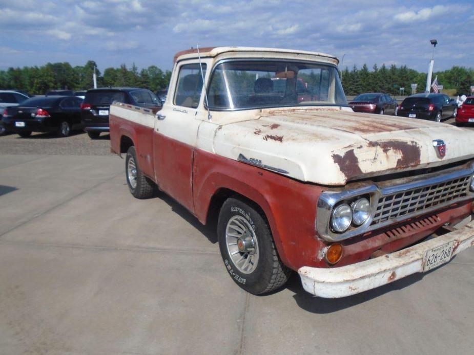
[(153, 196), (155, 186), (150, 179), (143, 175), (138, 167), (137, 153), (134, 146), (131, 146), (127, 151), (125, 175), (127, 176), (127, 185), (129, 186), (130, 193), (134, 197), (144, 199)]

